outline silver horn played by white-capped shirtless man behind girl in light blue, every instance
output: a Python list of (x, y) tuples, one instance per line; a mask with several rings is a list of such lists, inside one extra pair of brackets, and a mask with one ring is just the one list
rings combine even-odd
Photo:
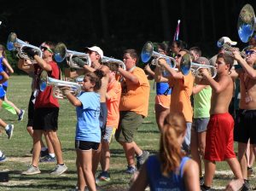
[(88, 54), (67, 49), (64, 43), (57, 43), (55, 46), (55, 61), (61, 62), (66, 58), (67, 65), (71, 68), (81, 69), (79, 63), (90, 67), (91, 61)]

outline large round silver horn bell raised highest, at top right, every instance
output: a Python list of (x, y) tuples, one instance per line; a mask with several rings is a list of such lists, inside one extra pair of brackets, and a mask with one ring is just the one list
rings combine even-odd
[(252, 5), (246, 4), (240, 11), (237, 31), (241, 42), (247, 43), (255, 30), (255, 14)]

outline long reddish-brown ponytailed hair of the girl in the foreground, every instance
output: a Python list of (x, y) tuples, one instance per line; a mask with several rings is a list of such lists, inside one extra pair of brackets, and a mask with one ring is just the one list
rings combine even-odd
[(182, 136), (187, 129), (183, 113), (167, 115), (160, 136), (160, 161), (163, 176), (168, 176), (171, 171), (177, 171), (183, 158), (181, 145), (177, 137)]

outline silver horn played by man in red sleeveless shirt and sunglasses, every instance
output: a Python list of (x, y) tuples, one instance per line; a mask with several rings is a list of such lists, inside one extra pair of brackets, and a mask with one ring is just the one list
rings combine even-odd
[(43, 52), (42, 52), (41, 49), (20, 40), (19, 38), (17, 38), (17, 35), (16, 35), (15, 32), (11, 32), (9, 34), (9, 37), (8, 37), (8, 40), (7, 40), (7, 49), (9, 49), (10, 51), (17, 50), (18, 55), (20, 56), (20, 58), (23, 58), (23, 59), (26, 59), (26, 60), (31, 60), (32, 62), (35, 62), (34, 58), (29, 57), (26, 54), (26, 52), (24, 51), (24, 49), (26, 49), (26, 48), (34, 49), (38, 53), (38, 56), (42, 58)]

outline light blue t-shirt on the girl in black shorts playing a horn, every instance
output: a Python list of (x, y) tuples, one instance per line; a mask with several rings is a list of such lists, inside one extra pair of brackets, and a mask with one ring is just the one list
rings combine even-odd
[(86, 142), (101, 142), (100, 129), (100, 95), (96, 92), (82, 92), (78, 97), (82, 102), (77, 107), (76, 140)]

